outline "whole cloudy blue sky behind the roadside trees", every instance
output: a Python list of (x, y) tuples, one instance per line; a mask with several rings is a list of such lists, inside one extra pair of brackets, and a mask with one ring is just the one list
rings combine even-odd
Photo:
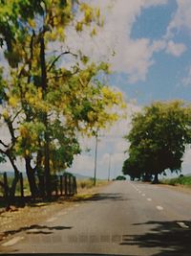
[[(121, 174), (128, 142), (122, 137), (131, 128), (131, 116), (154, 101), (191, 99), (191, 1), (190, 0), (86, 0), (99, 6), (104, 26), (91, 37), (69, 28), (66, 44), (95, 61), (109, 61), (108, 83), (127, 101), (127, 119), (117, 122), (98, 139), (97, 177)], [(55, 46), (57, 47), (57, 46)], [(63, 65), (70, 65), (64, 59)], [(68, 171), (94, 175), (95, 138), (80, 138), (83, 149)], [(9, 164), (2, 169), (9, 169)], [(21, 167), (22, 168), (22, 167)], [(182, 173), (191, 173), (191, 150), (183, 157)]]

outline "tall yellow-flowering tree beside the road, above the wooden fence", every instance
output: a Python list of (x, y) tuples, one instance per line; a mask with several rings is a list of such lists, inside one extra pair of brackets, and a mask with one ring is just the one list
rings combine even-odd
[[(94, 134), (117, 120), (110, 109), (121, 105), (121, 96), (97, 79), (99, 72), (108, 72), (108, 64), (91, 62), (80, 49), (73, 53), (64, 45), (71, 27), (96, 35), (100, 11), (72, 0), (0, 1), (0, 10), (0, 42), (10, 77), (2, 76), (1, 121), (11, 135), (9, 145), (1, 143), (11, 153), (2, 153), (12, 166), (16, 155), (24, 158), (33, 197), (38, 194), (34, 175), (43, 173), (50, 197), (51, 172), (70, 166), (80, 152), (78, 133)], [(53, 45), (60, 47), (54, 51)], [(65, 68), (61, 61), (67, 56), (73, 63)], [(16, 176), (16, 166), (14, 171)]]

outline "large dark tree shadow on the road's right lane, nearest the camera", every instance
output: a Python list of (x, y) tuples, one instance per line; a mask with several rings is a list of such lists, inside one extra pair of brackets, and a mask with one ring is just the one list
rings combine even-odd
[[(180, 227), (184, 223), (187, 227)], [(159, 248), (153, 256), (190, 256), (191, 221), (148, 221), (134, 225), (151, 225), (143, 235), (124, 235), (121, 245), (138, 245), (142, 248)]]

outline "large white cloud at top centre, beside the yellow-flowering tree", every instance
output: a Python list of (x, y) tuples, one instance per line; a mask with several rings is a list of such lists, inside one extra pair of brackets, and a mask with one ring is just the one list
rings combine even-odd
[(163, 50), (165, 42), (152, 41), (149, 38), (133, 39), (132, 28), (142, 9), (164, 5), (167, 2), (167, 0), (93, 0), (91, 3), (99, 6), (105, 16), (104, 27), (98, 29), (97, 35), (91, 38), (87, 29), (80, 35), (70, 30), (66, 44), (72, 50), (80, 48), (93, 60), (110, 61), (113, 71), (128, 74), (129, 82), (145, 81), (148, 70), (154, 63), (154, 52)]

